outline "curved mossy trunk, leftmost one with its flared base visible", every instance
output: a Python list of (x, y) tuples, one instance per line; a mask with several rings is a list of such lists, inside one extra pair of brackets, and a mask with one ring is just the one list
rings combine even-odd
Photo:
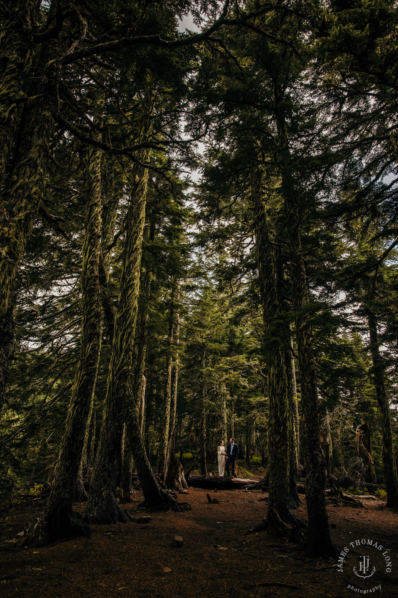
[[(102, 113), (103, 101), (101, 91), (96, 97), (97, 115)], [(102, 313), (98, 280), (101, 239), (101, 151), (94, 147), (88, 149), (87, 181), (79, 361), (50, 496), (44, 513), (30, 530), (26, 544), (45, 545), (60, 538), (87, 533), (88, 530), (85, 524), (76, 520), (72, 502), (76, 500), (76, 480), (82, 453), (87, 446), (101, 349)], [(84, 493), (84, 488), (82, 492)]]

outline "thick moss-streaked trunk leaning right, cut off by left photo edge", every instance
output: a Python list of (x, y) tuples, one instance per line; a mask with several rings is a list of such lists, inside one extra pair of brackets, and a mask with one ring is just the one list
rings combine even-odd
[(7, 312), (18, 263), (44, 194), (61, 74), (60, 62), (53, 59), (62, 51), (61, 45), (57, 38), (42, 44), (38, 68), (29, 88), (31, 97), (21, 114), (23, 134), (16, 141), (13, 170), (1, 194), (0, 316)]

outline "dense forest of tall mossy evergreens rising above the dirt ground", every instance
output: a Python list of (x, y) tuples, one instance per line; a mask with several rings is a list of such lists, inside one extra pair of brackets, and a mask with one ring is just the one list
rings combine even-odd
[(0, 505), (48, 493), (21, 542), (128, 523), (134, 472), (189, 508), (183, 455), (218, 475), (232, 437), (264, 524), (336, 556), (325, 487), (398, 507), (396, 4), (0, 18)]

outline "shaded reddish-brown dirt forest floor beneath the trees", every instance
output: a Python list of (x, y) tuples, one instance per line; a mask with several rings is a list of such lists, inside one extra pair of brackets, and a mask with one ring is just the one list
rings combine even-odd
[[(108, 596), (237, 597), (301, 596), (344, 597), (357, 591), (347, 589), (356, 579), (353, 566), (360, 549), (350, 549), (343, 572), (332, 560), (310, 561), (300, 553), (287, 552), (294, 545), (267, 532), (244, 535), (266, 514), (267, 496), (261, 491), (225, 490), (211, 492), (219, 504), (209, 504), (207, 490), (189, 489), (179, 495), (192, 511), (148, 512), (138, 508), (142, 493), (127, 505), (133, 517), (150, 515), (148, 524), (92, 526), (91, 540), (85, 538), (47, 548), (0, 552), (0, 577), (17, 569), (31, 572), (0, 582), (1, 596), (77, 598)], [(307, 520), (306, 501), (297, 514)], [(363, 508), (328, 505), (331, 535), (340, 547), (357, 538), (372, 538), (389, 549), (393, 567), (384, 568), (366, 580), (367, 593), (381, 591), (398, 596), (398, 514), (380, 501), (363, 501)], [(84, 504), (76, 504), (82, 511)], [(20, 505), (1, 515), (0, 544), (23, 530), (41, 509)], [(335, 526), (335, 527), (334, 527)], [(173, 546), (174, 535), (183, 536), (183, 547)], [(349, 547), (349, 546), (348, 546)], [(381, 553), (380, 553), (381, 554)], [(283, 585), (258, 585), (260, 582)], [(374, 588), (381, 585), (381, 590)], [(354, 586), (353, 586), (354, 587)], [(358, 586), (359, 587), (359, 586)], [(365, 586), (363, 586), (365, 587)], [(372, 591), (372, 588), (374, 591)], [(364, 593), (363, 591), (361, 593)], [(365, 592), (366, 593), (366, 592)]]

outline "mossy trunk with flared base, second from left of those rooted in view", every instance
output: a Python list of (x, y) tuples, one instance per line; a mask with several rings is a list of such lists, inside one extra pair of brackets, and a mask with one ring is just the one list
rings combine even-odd
[[(143, 127), (141, 138), (144, 139), (150, 130), (147, 118), (144, 118)], [(147, 161), (148, 152), (141, 151), (138, 157), (141, 162)], [(134, 174), (127, 214), (125, 248), (103, 423), (91, 475), (90, 494), (84, 512), (87, 521), (97, 523), (116, 523), (116, 521), (127, 523), (128, 521), (127, 515), (118, 505), (115, 492), (118, 461), (122, 454), (125, 411), (128, 397), (131, 395), (130, 377), (134, 361), (134, 334), (138, 312), (148, 171), (144, 167), (136, 165)]]

